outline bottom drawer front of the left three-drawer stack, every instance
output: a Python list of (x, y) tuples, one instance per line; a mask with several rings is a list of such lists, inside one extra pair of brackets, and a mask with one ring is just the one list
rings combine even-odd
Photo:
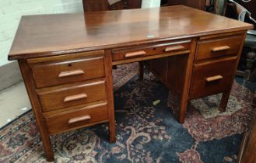
[(58, 113), (45, 117), (50, 134), (57, 134), (65, 130), (89, 126), (90, 124), (107, 121), (107, 104), (91, 106), (73, 112)]

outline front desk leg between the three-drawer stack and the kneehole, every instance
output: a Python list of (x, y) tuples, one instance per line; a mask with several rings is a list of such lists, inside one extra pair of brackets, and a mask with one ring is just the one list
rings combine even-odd
[(107, 108), (108, 108), (108, 128), (110, 135), (110, 143), (114, 143), (115, 137), (115, 124), (114, 124), (114, 92), (113, 92), (113, 77), (112, 77), (112, 59), (111, 51), (105, 51), (105, 71), (106, 71), (106, 84), (107, 84)]

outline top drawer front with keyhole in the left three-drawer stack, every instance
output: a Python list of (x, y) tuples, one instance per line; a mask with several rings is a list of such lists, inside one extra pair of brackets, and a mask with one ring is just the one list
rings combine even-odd
[(37, 88), (104, 77), (103, 56), (32, 66)]

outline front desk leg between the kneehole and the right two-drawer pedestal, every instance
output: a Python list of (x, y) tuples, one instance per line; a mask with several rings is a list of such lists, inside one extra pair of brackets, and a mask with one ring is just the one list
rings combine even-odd
[(197, 40), (193, 39), (191, 41), (191, 52), (188, 55), (187, 68), (184, 73), (184, 85), (181, 89), (181, 103), (179, 109), (179, 122), (184, 123), (185, 116), (187, 113), (188, 99), (189, 99), (189, 90), (191, 85), (191, 76), (193, 72), (193, 64), (195, 58), (195, 48), (196, 48)]

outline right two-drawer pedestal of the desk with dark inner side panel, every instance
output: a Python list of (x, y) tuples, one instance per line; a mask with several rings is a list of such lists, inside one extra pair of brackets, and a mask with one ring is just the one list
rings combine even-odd
[[(199, 37), (196, 43), (188, 99), (223, 93), (219, 110), (224, 112), (243, 44), (244, 33), (223, 33)], [(182, 96), (188, 61), (188, 55), (180, 55), (143, 63), (160, 78), (164, 85)], [(139, 69), (142, 69), (143, 64), (139, 65), (141, 67)], [(184, 102), (184, 105), (187, 109), (187, 102)], [(182, 115), (186, 113), (186, 109), (183, 112), (180, 108), (180, 123), (184, 123)]]

